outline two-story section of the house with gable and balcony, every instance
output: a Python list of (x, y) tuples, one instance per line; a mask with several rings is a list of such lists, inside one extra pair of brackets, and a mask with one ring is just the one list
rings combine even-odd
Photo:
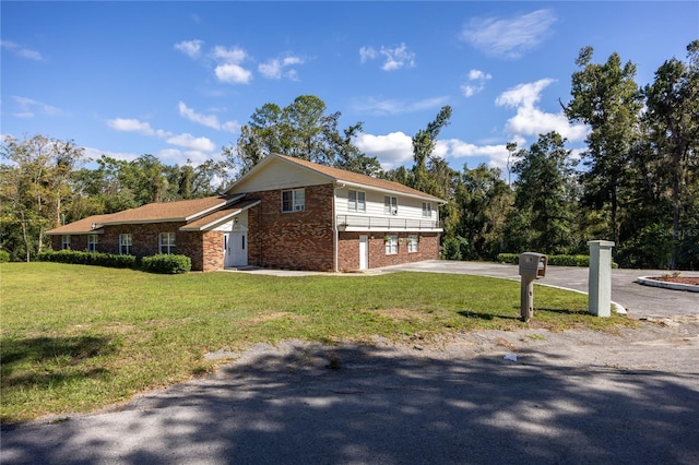
[(228, 194), (248, 213), (248, 263), (362, 271), (439, 258), (443, 200), (398, 182), (270, 155)]

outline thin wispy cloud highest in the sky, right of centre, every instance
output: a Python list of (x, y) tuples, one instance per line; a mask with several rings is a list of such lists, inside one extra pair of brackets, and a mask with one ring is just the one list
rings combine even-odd
[(472, 20), (461, 39), (494, 56), (521, 58), (550, 35), (556, 16), (550, 10), (537, 10), (511, 19)]

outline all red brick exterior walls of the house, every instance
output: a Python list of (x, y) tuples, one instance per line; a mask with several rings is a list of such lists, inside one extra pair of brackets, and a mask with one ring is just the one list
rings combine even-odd
[[(282, 213), (282, 191), (248, 193), (261, 202), (248, 211), (248, 264), (266, 269), (334, 271), (332, 183), (305, 189), (305, 211)], [(158, 253), (159, 233), (175, 233), (175, 253), (191, 259), (193, 271), (224, 267), (224, 233), (180, 231), (185, 223), (125, 224), (105, 226), (98, 235), (97, 251), (119, 253), (119, 235), (131, 234), (131, 253)], [(386, 253), (386, 235), (398, 235), (396, 254)], [(439, 258), (438, 233), (339, 233), (337, 271), (359, 270), (359, 236), (368, 236), (368, 267), (376, 269)], [(417, 252), (407, 251), (408, 235), (419, 237)], [(61, 249), (61, 236), (51, 236), (54, 250)], [(71, 249), (86, 250), (87, 235), (72, 235)]]

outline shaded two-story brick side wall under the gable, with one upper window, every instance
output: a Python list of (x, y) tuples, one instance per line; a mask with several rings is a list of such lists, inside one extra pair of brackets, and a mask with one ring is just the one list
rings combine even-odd
[(282, 213), (280, 190), (253, 192), (248, 213), (248, 263), (256, 266), (333, 271), (333, 186), (305, 188), (306, 210)]

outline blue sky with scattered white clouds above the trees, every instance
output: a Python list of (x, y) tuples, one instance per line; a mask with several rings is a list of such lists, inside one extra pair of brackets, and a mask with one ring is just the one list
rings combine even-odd
[(505, 145), (585, 128), (562, 117), (582, 47), (652, 82), (699, 38), (699, 2), (11, 2), (0, 133), (74, 140), (93, 158), (220, 159), (266, 103), (316, 95), (384, 168), (452, 107), (437, 154), (503, 168)]

